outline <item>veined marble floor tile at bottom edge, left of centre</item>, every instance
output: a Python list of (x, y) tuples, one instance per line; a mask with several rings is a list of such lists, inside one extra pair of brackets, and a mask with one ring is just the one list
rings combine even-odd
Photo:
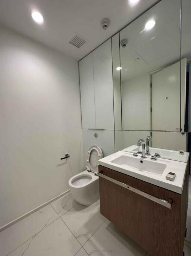
[(9, 256), (74, 256), (81, 245), (59, 218)]

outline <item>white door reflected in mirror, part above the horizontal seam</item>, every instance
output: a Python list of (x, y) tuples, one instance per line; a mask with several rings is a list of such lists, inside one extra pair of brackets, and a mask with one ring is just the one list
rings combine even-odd
[(152, 130), (180, 132), (180, 61), (151, 76)]

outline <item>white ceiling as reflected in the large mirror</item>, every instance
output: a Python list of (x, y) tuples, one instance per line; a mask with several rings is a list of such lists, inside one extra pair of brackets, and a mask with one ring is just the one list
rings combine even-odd
[[(162, 0), (120, 31), (120, 40), (128, 39), (126, 48), (120, 47), (122, 81), (154, 73), (180, 61), (180, 3), (179, 0)], [(156, 25), (146, 31), (144, 26), (151, 18)], [(140, 60), (135, 60), (137, 58)]]

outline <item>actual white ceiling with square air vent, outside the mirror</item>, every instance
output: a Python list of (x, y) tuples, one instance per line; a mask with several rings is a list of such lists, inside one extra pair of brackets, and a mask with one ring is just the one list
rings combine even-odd
[[(79, 60), (157, 2), (140, 0), (132, 6), (129, 0), (0, 0), (0, 22)], [(43, 25), (32, 20), (31, 10), (43, 14)], [(100, 26), (103, 18), (110, 19), (107, 31)], [(69, 44), (75, 32), (88, 40), (82, 48)]]

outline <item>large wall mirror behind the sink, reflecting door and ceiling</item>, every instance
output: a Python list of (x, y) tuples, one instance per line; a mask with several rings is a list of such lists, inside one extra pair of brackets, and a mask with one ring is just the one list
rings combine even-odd
[[(191, 60), (190, 11), (191, 1), (182, 1), (182, 47), (187, 46), (182, 55), (181, 0), (159, 1), (112, 37), (116, 151), (147, 136), (152, 136), (151, 147), (187, 150), (184, 78)], [(188, 127), (191, 131), (191, 123)]]

